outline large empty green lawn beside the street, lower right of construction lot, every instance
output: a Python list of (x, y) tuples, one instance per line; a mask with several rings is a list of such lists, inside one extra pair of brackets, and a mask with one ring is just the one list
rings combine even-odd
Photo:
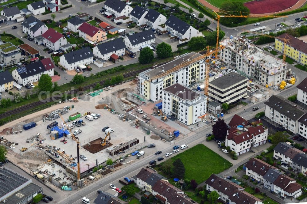
[(218, 174), (232, 166), (229, 161), (203, 144), (191, 147), (171, 159), (172, 161), (181, 159), (185, 165), (185, 179), (195, 179), (197, 183), (202, 183), (211, 174)]

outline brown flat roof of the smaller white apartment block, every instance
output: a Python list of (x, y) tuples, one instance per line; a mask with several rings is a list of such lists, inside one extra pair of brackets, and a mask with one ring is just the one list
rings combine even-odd
[(192, 89), (189, 89), (186, 86), (183, 86), (181, 84), (173, 84), (165, 89), (163, 89), (164, 91), (171, 93), (179, 98), (181, 98), (182, 100), (194, 100), (196, 98), (198, 98), (199, 96), (201, 96), (199, 93), (197, 93), (196, 91), (193, 91)]

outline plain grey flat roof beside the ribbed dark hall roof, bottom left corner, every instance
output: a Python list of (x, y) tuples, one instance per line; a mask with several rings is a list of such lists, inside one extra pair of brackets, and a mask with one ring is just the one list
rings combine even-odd
[(22, 188), (20, 191), (17, 191), (13, 195), (7, 198), (8, 204), (16, 204), (22, 202), (24, 199), (28, 198), (28, 196), (31, 196), (32, 194), (41, 191), (42, 187), (37, 186), (34, 183), (30, 183), (29, 185)]

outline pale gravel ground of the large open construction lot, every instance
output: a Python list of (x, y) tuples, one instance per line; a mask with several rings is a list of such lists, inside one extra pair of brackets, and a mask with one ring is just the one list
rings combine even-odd
[[(127, 87), (127, 83), (125, 84)], [(106, 99), (107, 96), (111, 96), (112, 91), (115, 91), (121, 88), (123, 85), (124, 84), (116, 86), (111, 91), (103, 91), (103, 93), (100, 93), (100, 95), (95, 96), (95, 97), (89, 96), (87, 97), (85, 101), (79, 100), (79, 102), (77, 103), (66, 103), (67, 106), (71, 106), (72, 104), (74, 104), (74, 108), (69, 110), (67, 114), (63, 115), (64, 119), (68, 119), (69, 115), (72, 115), (75, 112), (80, 112), (81, 114), (84, 114), (85, 112), (101, 114), (100, 118), (94, 119), (93, 121), (89, 121), (85, 119), (85, 117), (79, 118), (79, 119), (83, 119), (83, 121), (87, 124), (84, 126), (75, 127), (74, 129), (72, 129), (72, 131), (77, 130), (77, 129), (82, 130), (82, 132), (77, 136), (79, 137), (79, 141), (81, 144), (80, 154), (85, 155), (87, 157), (87, 161), (83, 161), (82, 159), (80, 160), (81, 172), (84, 172), (88, 168), (96, 166), (96, 159), (97, 159), (98, 164), (101, 164), (104, 161), (106, 161), (108, 158), (111, 158), (111, 156), (106, 151), (106, 149), (103, 149), (97, 153), (90, 153), (89, 151), (87, 151), (86, 149), (82, 147), (84, 145), (88, 146), (88, 144), (91, 145), (91, 142), (96, 139), (99, 139), (99, 138), (104, 139), (106, 134), (102, 132), (102, 128), (106, 126), (109, 126), (110, 128), (114, 129), (114, 132), (111, 133), (111, 140), (110, 141), (107, 140), (108, 142), (112, 144), (111, 147), (115, 147), (117, 145), (120, 145), (121, 143), (128, 142), (134, 138), (139, 139), (139, 144), (133, 146), (130, 149), (125, 150), (125, 153), (121, 153), (119, 155), (112, 157), (112, 160), (116, 160), (119, 157), (132, 153), (135, 150), (141, 149), (150, 143), (155, 143), (157, 147), (150, 148), (150, 149), (146, 147), (146, 149), (144, 149), (145, 154), (146, 154), (146, 150), (148, 150), (148, 153), (152, 153), (152, 152), (159, 150), (159, 148), (165, 148), (166, 146), (169, 146), (169, 143), (165, 143), (161, 140), (157, 140), (157, 138), (155, 137), (150, 137), (152, 134), (147, 135), (146, 132), (141, 130), (140, 128), (134, 128), (131, 125), (132, 122), (130, 123), (128, 123), (127, 121), (123, 122), (122, 120), (119, 119), (118, 115), (112, 114), (105, 109), (95, 108), (96, 105), (102, 104), (103, 102), (105, 102), (104, 100), (102, 100), (102, 98)], [(64, 106), (65, 105), (63, 105), (62, 107)], [(56, 109), (57, 108), (54, 108), (53, 110), (56, 110)], [(46, 159), (48, 158), (48, 157), (41, 156), (41, 153), (37, 155), (37, 145), (39, 144), (39, 142), (37, 144), (34, 144), (37, 142), (35, 140), (34, 142), (30, 141), (29, 143), (26, 143), (27, 138), (33, 137), (37, 133), (41, 133), (40, 139), (44, 140), (42, 145), (56, 146), (56, 148), (60, 148), (60, 151), (65, 150), (66, 154), (72, 155), (72, 157), (74, 158), (77, 157), (77, 145), (76, 145), (76, 142), (72, 140), (72, 138), (68, 138), (68, 142), (66, 144), (60, 142), (62, 138), (59, 138), (56, 140), (52, 140), (50, 138), (50, 134), (47, 133), (47, 125), (49, 125), (53, 121), (57, 121), (59, 123), (59, 126), (61, 126), (62, 120), (59, 118), (53, 121), (43, 122), (41, 115), (48, 114), (49, 112), (50, 111), (42, 113), (40, 111), (40, 113), (34, 113), (32, 115), (28, 115), (25, 117), (24, 120), (27, 120), (27, 121), (33, 120), (37, 122), (36, 127), (31, 128), (29, 130), (23, 130), (22, 133), (19, 133), (19, 134), (5, 135), (5, 138), (9, 140), (10, 142), (19, 143), (18, 145), (15, 145), (15, 149), (13, 149), (13, 151), (18, 154), (21, 153), (21, 158), (23, 160), (30, 159), (30, 160), (36, 160), (36, 161), (46, 161)], [(21, 122), (19, 121), (19, 124), (20, 123)], [(25, 123), (22, 123), (22, 124), (25, 124)], [(16, 125), (14, 124), (12, 124), (11, 127), (12, 126), (16, 127)], [(22, 126), (20, 125), (19, 127), (20, 129), (19, 128), (18, 129), (22, 130)], [(16, 130), (17, 128), (15, 129), (15, 131)], [(144, 142), (144, 140), (146, 141)], [(92, 143), (92, 144), (95, 144), (95, 143)], [(28, 150), (26, 150), (25, 152), (20, 152), (20, 149), (22, 147), (26, 147), (28, 148)], [(132, 159), (136, 159), (136, 157), (129, 157), (129, 159), (127, 160), (129, 161)]]

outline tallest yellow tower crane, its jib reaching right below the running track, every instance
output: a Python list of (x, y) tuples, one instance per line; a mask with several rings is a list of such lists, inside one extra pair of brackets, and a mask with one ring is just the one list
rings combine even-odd
[[(220, 17), (228, 17), (228, 18), (278, 18), (278, 17), (288, 17), (288, 16), (274, 16), (274, 15), (258, 15), (258, 14), (251, 14), (246, 13), (246, 15), (243, 15), (240, 11), (240, 15), (232, 15), (227, 12), (230, 11), (213, 11), (216, 13), (216, 18), (214, 20), (217, 20), (217, 29), (216, 29), (216, 48), (219, 47), (219, 30), (220, 30)], [(220, 14), (219, 14), (220, 13)], [(217, 57), (217, 52), (215, 53), (215, 57)]]

